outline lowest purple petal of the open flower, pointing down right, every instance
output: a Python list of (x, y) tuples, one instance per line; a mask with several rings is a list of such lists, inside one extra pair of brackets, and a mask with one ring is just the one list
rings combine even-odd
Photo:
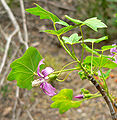
[(54, 95), (56, 95), (56, 93), (55, 93), (55, 88), (51, 85), (51, 84), (49, 84), (49, 83), (47, 83), (47, 82), (44, 82), (44, 83), (42, 83), (41, 85), (40, 85), (40, 88), (43, 90), (43, 92), (46, 94), (46, 95), (49, 95), (49, 96), (54, 96)]

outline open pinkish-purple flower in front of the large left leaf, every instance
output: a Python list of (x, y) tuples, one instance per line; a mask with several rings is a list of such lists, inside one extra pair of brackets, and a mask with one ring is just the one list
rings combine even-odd
[(54, 96), (56, 95), (55, 93), (55, 88), (49, 84), (48, 82), (46, 82), (46, 80), (49, 78), (48, 75), (53, 73), (54, 70), (51, 68), (51, 67), (46, 67), (45, 69), (43, 69), (41, 72), (40, 72), (40, 66), (43, 63), (44, 59), (42, 59), (40, 62), (39, 62), (39, 65), (38, 65), (38, 68), (37, 68), (37, 74), (38, 76), (40, 77), (39, 79), (37, 80), (34, 80), (32, 82), (32, 86), (38, 86), (40, 85), (40, 88), (43, 90), (43, 92), (49, 96)]

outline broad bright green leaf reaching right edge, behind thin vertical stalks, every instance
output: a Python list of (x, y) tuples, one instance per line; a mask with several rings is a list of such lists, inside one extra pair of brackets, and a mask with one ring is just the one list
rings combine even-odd
[[(84, 60), (84, 64), (91, 64), (91, 56), (87, 56)], [(108, 58), (102, 56), (102, 57), (93, 57), (93, 65), (96, 67), (104, 67), (104, 68), (110, 68), (114, 69), (117, 67), (117, 64), (113, 61), (109, 60)]]

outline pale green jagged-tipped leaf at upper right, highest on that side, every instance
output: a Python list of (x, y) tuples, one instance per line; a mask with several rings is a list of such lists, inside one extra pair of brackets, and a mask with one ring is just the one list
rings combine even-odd
[(97, 19), (97, 17), (93, 17), (90, 19), (87, 19), (83, 22), (83, 24), (87, 25), (88, 27), (90, 27), (91, 29), (93, 29), (94, 31), (98, 31), (98, 28), (106, 28), (107, 26), (101, 22), (101, 20)]

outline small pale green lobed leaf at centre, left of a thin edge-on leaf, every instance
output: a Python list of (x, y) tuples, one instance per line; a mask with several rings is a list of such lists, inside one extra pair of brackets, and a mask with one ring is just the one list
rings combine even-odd
[(79, 40), (81, 38), (82, 38), (82, 36), (78, 36), (77, 33), (72, 34), (70, 37), (65, 37), (65, 36), (62, 37), (63, 41), (70, 45), (79, 43)]

